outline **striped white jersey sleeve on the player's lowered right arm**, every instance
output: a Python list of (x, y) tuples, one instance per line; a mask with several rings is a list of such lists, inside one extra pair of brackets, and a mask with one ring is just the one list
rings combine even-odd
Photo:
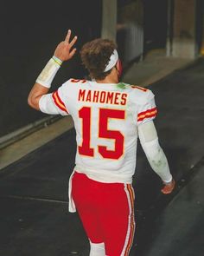
[(154, 120), (156, 115), (155, 95), (148, 89), (143, 92), (143, 96), (137, 104), (137, 125)]

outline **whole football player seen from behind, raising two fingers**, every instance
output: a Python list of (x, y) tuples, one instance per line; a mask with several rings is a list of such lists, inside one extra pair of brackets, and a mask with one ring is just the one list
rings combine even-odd
[(29, 93), (29, 105), (51, 115), (72, 115), (77, 153), (69, 180), (69, 211), (80, 214), (91, 256), (129, 255), (135, 232), (134, 190), (137, 138), (169, 194), (175, 181), (160, 147), (150, 89), (119, 82), (121, 64), (110, 40), (86, 43), (80, 56), (92, 81), (69, 79), (48, 93), (62, 62), (75, 54), (77, 36), (57, 46)]

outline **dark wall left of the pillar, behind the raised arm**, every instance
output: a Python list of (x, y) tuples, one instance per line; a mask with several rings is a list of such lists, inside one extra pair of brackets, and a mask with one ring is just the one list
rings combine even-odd
[(0, 137), (45, 116), (29, 108), (27, 97), (68, 29), (79, 36), (78, 54), (63, 64), (53, 89), (70, 77), (83, 77), (79, 49), (100, 36), (101, 11), (100, 0), (1, 1)]

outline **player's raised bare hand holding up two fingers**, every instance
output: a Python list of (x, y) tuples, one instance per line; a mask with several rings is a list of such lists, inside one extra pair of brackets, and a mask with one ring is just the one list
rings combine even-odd
[(73, 40), (69, 43), (71, 33), (72, 31), (68, 30), (65, 41), (59, 43), (57, 48), (54, 50), (54, 56), (59, 58), (62, 62), (70, 60), (76, 52), (76, 48), (72, 48), (74, 43), (77, 41), (77, 36), (74, 36)]

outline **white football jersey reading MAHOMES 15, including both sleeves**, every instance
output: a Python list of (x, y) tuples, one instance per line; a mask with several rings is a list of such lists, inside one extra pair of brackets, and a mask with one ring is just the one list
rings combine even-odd
[(156, 117), (149, 89), (70, 79), (54, 93), (43, 95), (39, 104), (44, 113), (72, 115), (75, 170), (95, 181), (131, 183), (137, 126)]

